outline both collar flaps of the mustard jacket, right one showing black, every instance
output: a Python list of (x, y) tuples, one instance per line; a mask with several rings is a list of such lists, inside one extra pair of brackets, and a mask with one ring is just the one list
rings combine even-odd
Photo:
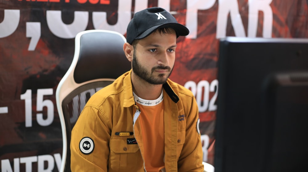
[[(123, 101), (123, 107), (130, 107), (132, 105), (135, 105), (135, 100), (133, 96), (133, 88), (132, 88), (132, 69), (124, 74), (123, 79), (123, 92), (124, 92), (124, 101)], [(163, 88), (168, 94), (168, 96), (171, 98), (171, 100), (175, 103), (179, 101), (179, 97), (176, 95), (172, 87), (170, 86), (170, 79), (167, 80), (166, 83), (163, 84)]]

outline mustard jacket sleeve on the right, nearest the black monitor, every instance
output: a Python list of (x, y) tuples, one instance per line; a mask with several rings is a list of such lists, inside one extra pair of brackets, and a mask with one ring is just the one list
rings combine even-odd
[(178, 172), (203, 172), (201, 135), (197, 126), (199, 122), (198, 106), (195, 97), (192, 97), (192, 100), (188, 102), (192, 103), (190, 106), (188, 105), (190, 110), (186, 117), (185, 143), (178, 160)]

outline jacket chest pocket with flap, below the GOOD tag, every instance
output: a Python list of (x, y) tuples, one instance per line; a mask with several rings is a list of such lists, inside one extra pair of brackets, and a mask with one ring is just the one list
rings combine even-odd
[(138, 144), (127, 144), (128, 138), (134, 137), (112, 136), (110, 138), (108, 171), (137, 171), (140, 168), (140, 162), (142, 165)]

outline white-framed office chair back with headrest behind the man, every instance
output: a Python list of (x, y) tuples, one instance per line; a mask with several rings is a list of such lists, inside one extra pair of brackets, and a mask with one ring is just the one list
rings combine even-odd
[(95, 92), (131, 69), (123, 51), (125, 42), (123, 35), (107, 30), (87, 30), (76, 35), (73, 61), (56, 90), (63, 137), (60, 172), (71, 171), (71, 129), (86, 102)]

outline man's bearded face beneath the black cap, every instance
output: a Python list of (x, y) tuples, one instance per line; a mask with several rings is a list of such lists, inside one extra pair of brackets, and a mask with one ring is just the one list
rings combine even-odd
[(154, 85), (164, 84), (170, 76), (176, 49), (176, 33), (153, 32), (138, 40), (134, 46), (132, 70), (140, 78)]

